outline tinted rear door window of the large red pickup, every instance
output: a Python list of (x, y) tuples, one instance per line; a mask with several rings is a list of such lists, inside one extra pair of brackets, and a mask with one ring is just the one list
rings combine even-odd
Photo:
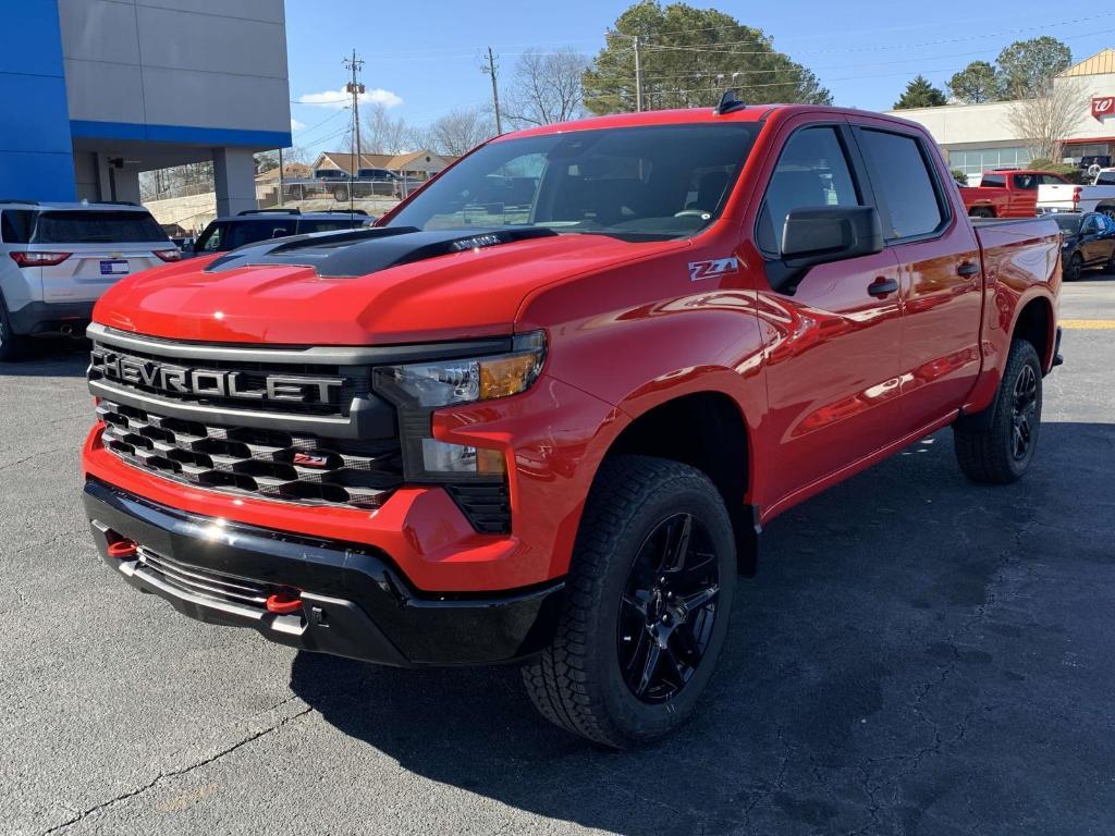
[(875, 196), (886, 210), (883, 234), (896, 241), (935, 232), (946, 220), (944, 202), (921, 143), (873, 128), (862, 128), (859, 137)]

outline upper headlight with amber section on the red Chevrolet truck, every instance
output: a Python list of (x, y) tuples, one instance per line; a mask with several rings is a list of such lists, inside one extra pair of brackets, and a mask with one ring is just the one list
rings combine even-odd
[(516, 337), (507, 354), (377, 369), (377, 388), (426, 409), (506, 398), (531, 388), (545, 354), (545, 334), (534, 331)]

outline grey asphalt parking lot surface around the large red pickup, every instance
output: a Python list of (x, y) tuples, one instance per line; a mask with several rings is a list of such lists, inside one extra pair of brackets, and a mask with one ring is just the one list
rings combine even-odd
[[(638, 752), (511, 669), (408, 672), (185, 620), (97, 560), (85, 357), (0, 367), (0, 832), (1109, 834), (1115, 276), (1066, 288), (1034, 470), (948, 430), (772, 524), (697, 719)], [(1096, 325), (1101, 323), (1095, 323)]]

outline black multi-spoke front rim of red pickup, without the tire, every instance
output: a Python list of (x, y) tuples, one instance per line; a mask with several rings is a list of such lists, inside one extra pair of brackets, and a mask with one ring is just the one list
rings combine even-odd
[(691, 514), (647, 537), (623, 589), (617, 642), (623, 680), (650, 704), (673, 699), (705, 658), (717, 615), (719, 563)]

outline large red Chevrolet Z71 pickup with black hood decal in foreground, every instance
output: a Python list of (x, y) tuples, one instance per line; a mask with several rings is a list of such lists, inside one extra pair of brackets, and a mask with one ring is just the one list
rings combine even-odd
[(695, 710), (778, 514), (943, 427), (972, 480), (1026, 472), (1059, 286), (1054, 221), (973, 229), (909, 121), (533, 128), (376, 227), (106, 293), (85, 507), (185, 615), (521, 663), (544, 717), (638, 745)]

